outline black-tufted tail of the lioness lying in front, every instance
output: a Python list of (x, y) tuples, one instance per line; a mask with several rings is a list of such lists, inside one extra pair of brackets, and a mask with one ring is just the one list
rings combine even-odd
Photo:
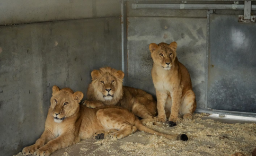
[(152, 130), (146, 126), (144, 126), (141, 121), (139, 119), (136, 119), (135, 121), (135, 126), (137, 128), (137, 130), (141, 130), (150, 134), (156, 134), (157, 136), (162, 136), (165, 137), (167, 139), (171, 139), (171, 140), (182, 140), (182, 141), (186, 141), (188, 138), (185, 134), (174, 134), (174, 135), (170, 135), (170, 134), (164, 134), (164, 133), (160, 133), (158, 131)]

